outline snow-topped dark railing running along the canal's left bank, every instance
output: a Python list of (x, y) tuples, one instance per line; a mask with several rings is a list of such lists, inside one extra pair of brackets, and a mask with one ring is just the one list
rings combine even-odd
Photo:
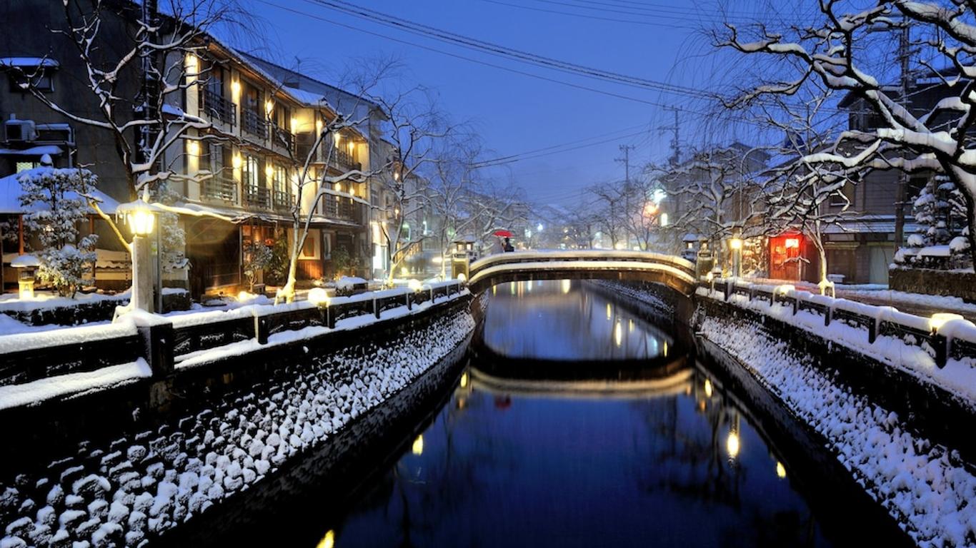
[[(332, 330), (336, 329), (336, 322), (357, 316), (380, 319), (386, 310), (399, 307), (413, 310), (419, 304), (461, 294), (464, 289), (462, 282), (451, 280), (417, 290), (398, 288), (320, 302), (255, 304), (172, 317), (133, 314), (131, 320), (124, 317), (111, 325), (3, 335), (0, 336), (0, 387), (55, 375), (92, 372), (141, 359), (151, 367), (154, 376), (162, 376), (173, 371), (176, 356), (246, 340), (266, 344), (268, 336), (275, 333), (307, 328)], [(344, 326), (344, 329), (355, 326)]]

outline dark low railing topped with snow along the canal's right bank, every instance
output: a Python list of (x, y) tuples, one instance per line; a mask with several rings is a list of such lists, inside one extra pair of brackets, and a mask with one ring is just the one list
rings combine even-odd
[[(868, 349), (880, 352), (879, 338), (888, 337), (905, 345), (920, 348), (931, 357), (936, 367), (945, 368), (950, 359), (976, 364), (976, 326), (962, 319), (924, 318), (907, 314), (892, 306), (875, 306), (843, 298), (797, 291), (793, 286), (768, 286), (734, 280), (715, 280), (702, 283), (699, 293), (712, 298), (721, 296), (726, 302), (745, 305), (772, 317), (796, 316), (805, 312), (823, 319), (815, 334), (828, 338), (849, 336), (832, 330), (842, 325), (860, 333)], [(763, 302), (758, 302), (763, 301)], [(769, 314), (775, 312), (775, 314)], [(803, 326), (800, 326), (801, 328)], [(808, 331), (813, 331), (812, 329)]]

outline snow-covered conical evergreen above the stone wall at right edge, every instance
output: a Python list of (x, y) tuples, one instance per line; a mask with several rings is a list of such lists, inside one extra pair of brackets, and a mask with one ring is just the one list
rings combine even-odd
[(895, 254), (898, 264), (960, 268), (971, 263), (962, 193), (948, 176), (935, 176), (918, 192), (912, 208), (918, 228)]

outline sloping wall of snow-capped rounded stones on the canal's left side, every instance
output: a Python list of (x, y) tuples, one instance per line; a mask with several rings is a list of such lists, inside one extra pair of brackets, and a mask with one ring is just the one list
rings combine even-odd
[(0, 478), (0, 547), (139, 546), (313, 450), (473, 327), (457, 312), (384, 347), (353, 346), (286, 369), (157, 431), (103, 448), (79, 444), (77, 456), (36, 477)]

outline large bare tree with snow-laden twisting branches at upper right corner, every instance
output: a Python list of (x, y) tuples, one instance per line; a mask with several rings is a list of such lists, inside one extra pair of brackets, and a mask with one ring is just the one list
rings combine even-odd
[[(792, 97), (813, 83), (860, 98), (876, 116), (876, 127), (841, 132), (827, 150), (810, 151), (804, 161), (949, 176), (964, 197), (969, 250), (976, 256), (976, 149), (971, 137), (976, 123), (976, 80), (972, 78), (976, 73), (976, 4), (881, 0), (857, 13), (846, 13), (849, 4), (836, 0), (824, 0), (819, 6), (819, 20), (776, 31), (759, 23), (726, 23), (727, 31), (716, 34), (719, 47), (763, 55), (777, 63), (762, 81), (728, 101), (728, 106), (756, 105), (773, 96)], [(903, 44), (908, 47), (902, 52), (901, 86), (886, 86), (883, 68), (872, 70), (867, 59), (859, 57), (876, 55), (876, 50), (863, 44), (879, 28), (904, 33)], [(941, 82), (939, 91), (945, 95), (920, 113), (905, 103), (912, 84), (909, 47), (917, 52), (917, 63)], [(781, 77), (784, 73), (793, 76)]]

